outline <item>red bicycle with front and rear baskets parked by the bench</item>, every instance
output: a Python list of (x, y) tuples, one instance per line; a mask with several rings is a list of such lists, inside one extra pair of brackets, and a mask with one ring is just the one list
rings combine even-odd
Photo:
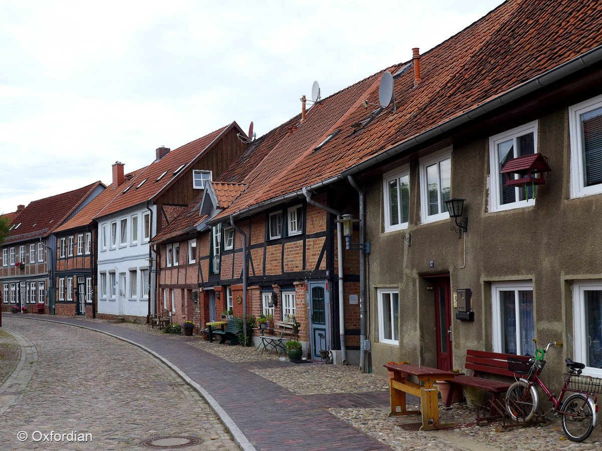
[[(537, 340), (533, 340), (537, 343)], [(602, 379), (582, 375), (583, 363), (566, 358), (568, 373), (564, 374), (564, 384), (560, 396), (556, 398), (544, 381), (539, 378), (545, 366), (545, 353), (550, 346), (562, 346), (561, 342), (551, 342), (545, 349), (537, 349), (529, 362), (510, 358), (508, 369), (524, 377), (510, 385), (506, 393), (507, 411), (515, 421), (527, 422), (535, 415), (539, 407), (539, 386), (552, 402), (551, 411), (562, 421), (562, 430), (573, 441), (583, 441), (594, 430), (597, 421), (598, 396), (602, 388)], [(569, 396), (564, 399), (565, 393)]]

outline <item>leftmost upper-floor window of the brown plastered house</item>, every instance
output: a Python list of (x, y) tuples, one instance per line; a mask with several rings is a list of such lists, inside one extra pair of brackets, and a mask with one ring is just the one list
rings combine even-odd
[(408, 228), (410, 201), (410, 173), (404, 167), (383, 177), (385, 232)]

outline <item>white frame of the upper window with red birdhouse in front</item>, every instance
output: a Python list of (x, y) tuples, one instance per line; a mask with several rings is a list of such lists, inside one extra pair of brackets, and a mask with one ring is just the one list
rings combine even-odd
[[(512, 203), (503, 204), (501, 203), (501, 168), (500, 168), (500, 155), (498, 152), (498, 144), (505, 143), (506, 141), (514, 141), (514, 157), (517, 158), (517, 138), (533, 133), (533, 153), (537, 153), (537, 135), (538, 121), (529, 122), (515, 127), (511, 130), (498, 133), (492, 137), (489, 137), (489, 211), (501, 212), (505, 210), (514, 210), (515, 208), (524, 208), (535, 205), (535, 199), (517, 200)], [(518, 198), (520, 191), (524, 188), (523, 186), (515, 187), (515, 198)]]

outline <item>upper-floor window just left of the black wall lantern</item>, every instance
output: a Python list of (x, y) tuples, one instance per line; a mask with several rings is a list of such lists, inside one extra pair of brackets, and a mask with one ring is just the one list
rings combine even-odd
[(420, 213), (423, 222), (449, 219), (445, 201), (450, 200), (451, 192), (451, 149), (420, 159)]

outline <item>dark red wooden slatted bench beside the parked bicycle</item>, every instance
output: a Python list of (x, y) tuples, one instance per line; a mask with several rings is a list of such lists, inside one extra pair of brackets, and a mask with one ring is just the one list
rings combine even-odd
[[(482, 388), (489, 391), (493, 396), (493, 401), (499, 399), (502, 393), (506, 393), (510, 385), (515, 382), (513, 371), (508, 369), (508, 359), (514, 358), (528, 362), (526, 355), (503, 354), (501, 352), (477, 351), (476, 349), (467, 349), (465, 368), (473, 370), (472, 376), (460, 375), (453, 378), (450, 382), (450, 393), (445, 399), (445, 407), (452, 405), (452, 397), (455, 391), (461, 390), (462, 385), (468, 387)], [(495, 379), (485, 379), (482, 375), (506, 376), (508, 381)]]

